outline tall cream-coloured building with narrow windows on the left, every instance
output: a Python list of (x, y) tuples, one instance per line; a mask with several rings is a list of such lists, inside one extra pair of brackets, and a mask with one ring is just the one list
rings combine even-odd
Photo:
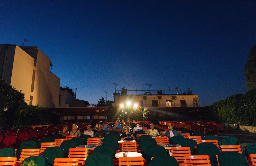
[(0, 44), (0, 74), (22, 90), (29, 105), (58, 108), (60, 78), (50, 72), (51, 59), (38, 47)]

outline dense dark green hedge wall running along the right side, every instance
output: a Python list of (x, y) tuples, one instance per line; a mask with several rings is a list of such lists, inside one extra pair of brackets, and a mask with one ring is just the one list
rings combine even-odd
[(256, 89), (233, 95), (204, 108), (204, 117), (219, 123), (256, 126)]

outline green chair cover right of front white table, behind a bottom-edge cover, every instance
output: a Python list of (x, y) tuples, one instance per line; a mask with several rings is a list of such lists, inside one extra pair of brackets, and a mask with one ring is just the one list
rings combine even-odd
[(167, 156), (165, 148), (161, 145), (150, 145), (147, 146), (144, 154), (142, 155), (146, 159), (147, 165), (150, 164), (151, 157), (162, 157)]

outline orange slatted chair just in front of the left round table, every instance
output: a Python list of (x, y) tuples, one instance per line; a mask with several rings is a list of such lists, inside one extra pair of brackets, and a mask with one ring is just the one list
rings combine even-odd
[(88, 157), (88, 148), (69, 148), (68, 158), (78, 158), (78, 164), (84, 165)]

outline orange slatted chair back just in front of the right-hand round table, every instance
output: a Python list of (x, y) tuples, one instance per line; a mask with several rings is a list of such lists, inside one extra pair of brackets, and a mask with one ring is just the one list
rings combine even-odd
[(184, 163), (184, 156), (190, 156), (190, 147), (171, 147), (171, 156), (173, 156), (178, 163)]

